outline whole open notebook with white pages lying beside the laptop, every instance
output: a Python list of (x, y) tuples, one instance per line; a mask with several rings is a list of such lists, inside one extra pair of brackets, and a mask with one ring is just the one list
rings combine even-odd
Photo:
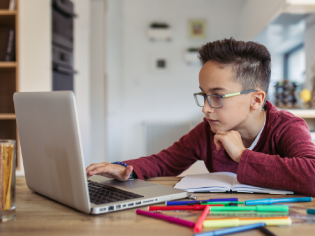
[(241, 184), (236, 174), (231, 172), (215, 172), (206, 174), (186, 175), (174, 188), (188, 192), (243, 192), (266, 194), (294, 194), (292, 191), (281, 189), (262, 188), (253, 185)]

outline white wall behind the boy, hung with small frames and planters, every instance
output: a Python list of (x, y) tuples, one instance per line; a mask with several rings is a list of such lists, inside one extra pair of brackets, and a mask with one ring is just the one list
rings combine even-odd
[[(200, 65), (187, 65), (183, 53), (208, 41), (237, 38), (235, 19), (243, 2), (108, 0), (108, 124), (115, 124), (108, 132), (108, 160), (145, 155), (142, 124), (146, 120), (201, 121), (203, 114), (192, 96), (199, 91)], [(207, 38), (189, 39), (189, 19), (206, 19)], [(171, 26), (171, 42), (148, 39), (146, 30), (153, 21)], [(169, 57), (165, 73), (150, 69), (150, 58), (158, 54)]]

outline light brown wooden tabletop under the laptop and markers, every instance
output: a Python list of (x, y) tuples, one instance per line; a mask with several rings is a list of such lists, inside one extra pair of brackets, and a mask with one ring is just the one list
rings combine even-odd
[[(174, 186), (180, 177), (157, 177), (148, 181)], [(197, 200), (238, 198), (239, 201), (270, 197), (252, 194), (195, 194)], [(274, 198), (283, 197), (273, 195)], [(299, 197), (299, 196), (297, 196)], [(315, 208), (315, 202), (297, 203)], [(147, 207), (141, 207), (146, 210)], [(212, 217), (212, 216), (211, 216)], [(210, 216), (209, 216), (210, 218)], [(198, 216), (187, 220), (196, 222)], [(292, 227), (268, 227), (277, 236), (314, 236), (315, 224)], [(203, 230), (203, 232), (210, 229)], [(192, 236), (192, 229), (135, 214), (135, 209), (102, 215), (86, 215), (29, 190), (25, 178), (16, 180), (16, 220), (0, 223), (1, 236)], [(258, 230), (243, 232), (245, 236), (262, 236)]]

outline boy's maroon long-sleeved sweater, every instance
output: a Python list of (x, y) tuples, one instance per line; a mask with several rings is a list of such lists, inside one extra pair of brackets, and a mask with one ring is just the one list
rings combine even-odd
[(139, 179), (176, 176), (202, 160), (209, 172), (230, 171), (240, 183), (292, 190), (315, 196), (315, 145), (306, 122), (267, 101), (266, 124), (253, 150), (240, 163), (224, 148), (217, 151), (206, 118), (187, 135), (156, 155), (126, 161)]

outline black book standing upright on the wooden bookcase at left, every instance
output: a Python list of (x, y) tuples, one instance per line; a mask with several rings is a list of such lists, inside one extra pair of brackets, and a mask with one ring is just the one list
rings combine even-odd
[(0, 61), (15, 61), (15, 30), (0, 27)]

